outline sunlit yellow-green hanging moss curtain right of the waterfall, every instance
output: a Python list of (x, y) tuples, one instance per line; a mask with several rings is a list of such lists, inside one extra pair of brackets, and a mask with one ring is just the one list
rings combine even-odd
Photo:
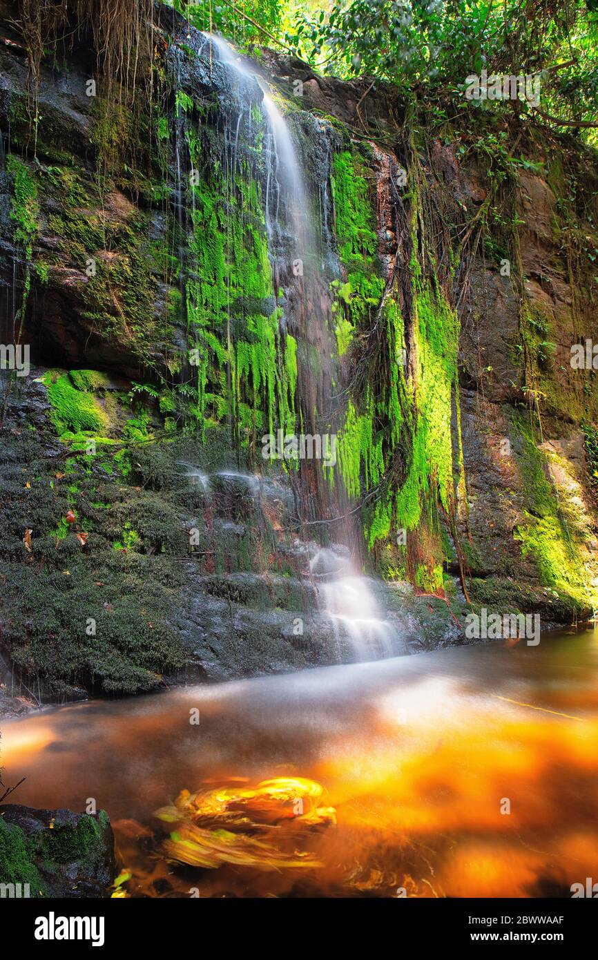
[(388, 377), (378, 396), (368, 391), (361, 413), (349, 401), (338, 442), (341, 475), (351, 496), (359, 495), (362, 479), (365, 489), (375, 487), (396, 454), (405, 464), (402, 482), (388, 485), (371, 511), (370, 546), (386, 540), (393, 527), (417, 529), (437, 504), (447, 514), (454, 508), (451, 418), (458, 391), (459, 322), (429, 285), (414, 280), (414, 295), (414, 377), (406, 378), (403, 321), (395, 300), (389, 298), (382, 311)]

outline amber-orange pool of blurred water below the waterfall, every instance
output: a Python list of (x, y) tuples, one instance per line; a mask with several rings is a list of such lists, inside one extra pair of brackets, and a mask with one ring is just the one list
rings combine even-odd
[[(3, 725), (3, 763), (21, 804), (108, 810), (132, 896), (570, 897), (598, 859), (597, 636), (52, 708)], [(214, 846), (266, 852), (169, 862), (154, 814), (185, 788), (211, 828), (229, 804)]]

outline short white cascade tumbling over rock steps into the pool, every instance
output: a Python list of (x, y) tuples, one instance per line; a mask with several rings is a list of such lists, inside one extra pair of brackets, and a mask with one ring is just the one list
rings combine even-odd
[(310, 570), (339, 648), (348, 640), (353, 659), (358, 661), (382, 660), (398, 653), (395, 627), (381, 619), (368, 579), (354, 573), (346, 557), (323, 548), (312, 558)]

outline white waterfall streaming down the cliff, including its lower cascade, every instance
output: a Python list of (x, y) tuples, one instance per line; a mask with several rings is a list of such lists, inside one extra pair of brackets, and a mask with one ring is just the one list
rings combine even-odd
[[(325, 238), (329, 233), (327, 187), (325, 184), (323, 186), (322, 182), (318, 185), (320, 209), (313, 212), (320, 214), (320, 228), (315, 230), (294, 138), (285, 117), (276, 106), (269, 85), (259, 73), (244, 63), (223, 37), (210, 34), (203, 34), (203, 37), (209, 44), (210, 71), (213, 63), (227, 68), (227, 84), (235, 103), (236, 117), (233, 112), (229, 118), (230, 129), (227, 128), (225, 132), (227, 183), (234, 184), (237, 174), (242, 129), (245, 135), (254, 137), (255, 145), (258, 138), (265, 133), (264, 213), (268, 254), (275, 290), (280, 287), (285, 290), (284, 309), (279, 323), (281, 328), (290, 327), (293, 333), (299, 335), (299, 344), (313, 344), (325, 355), (329, 315), (322, 304), (328, 296), (331, 279), (329, 263), (332, 259), (328, 255), (326, 270), (322, 254), (326, 245)], [(252, 105), (256, 103), (263, 118), (261, 132), (259, 125), (251, 121)], [(328, 167), (330, 153), (328, 145), (324, 152)], [(327, 176), (323, 180), (327, 181)], [(302, 382), (299, 380), (298, 388), (302, 420), (304, 426), (316, 431), (318, 423), (313, 420), (313, 412), (316, 408), (323, 407), (322, 384), (315, 384), (309, 362), (305, 362), (303, 367), (304, 379)], [(222, 477), (224, 474), (221, 474)], [(230, 473), (230, 478), (235, 478), (238, 484), (241, 474)], [(203, 483), (204, 490), (210, 483), (203, 478), (199, 478), (199, 482)], [(256, 478), (252, 476), (251, 485), (256, 482)], [(332, 625), (337, 650), (342, 659), (347, 657), (357, 661), (378, 660), (400, 652), (400, 641), (395, 628), (380, 615), (371, 586), (365, 577), (352, 570), (347, 560), (332, 550), (320, 550), (310, 565), (311, 577), (317, 584), (322, 599), (321, 612)]]

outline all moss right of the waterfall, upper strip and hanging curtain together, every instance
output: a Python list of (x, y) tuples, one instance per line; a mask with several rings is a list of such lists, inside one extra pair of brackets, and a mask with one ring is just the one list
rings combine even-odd
[[(375, 384), (368, 381), (363, 396), (348, 402), (338, 441), (340, 472), (352, 497), (380, 488), (366, 510), (370, 547), (389, 540), (394, 530), (417, 531), (419, 540), (425, 540), (425, 562), (422, 559), (412, 571), (416, 584), (421, 589), (442, 589), (438, 515), (454, 515), (455, 467), (460, 470), (458, 490), (465, 495), (457, 375), (459, 321), (442, 290), (423, 278), (412, 252), (408, 345), (397, 290), (381, 301), (385, 283), (375, 255), (368, 182), (348, 151), (334, 158), (334, 200), (339, 253), (347, 270), (347, 283), (337, 284), (339, 352), (347, 348), (358, 324), (367, 323), (371, 329), (373, 311), (381, 345), (377, 370), (371, 373), (375, 373)], [(416, 251), (416, 192), (412, 201), (416, 211), (412, 213), (412, 249)], [(428, 532), (422, 534), (422, 530)], [(395, 550), (393, 563), (404, 563), (400, 553)]]

